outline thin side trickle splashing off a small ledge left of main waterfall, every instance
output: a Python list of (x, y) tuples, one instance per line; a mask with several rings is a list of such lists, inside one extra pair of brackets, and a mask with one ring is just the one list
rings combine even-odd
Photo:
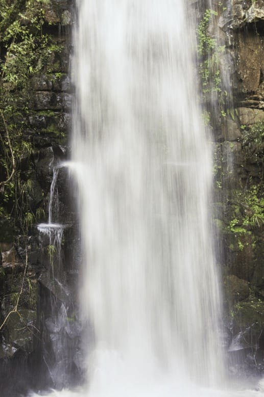
[[(65, 247), (68, 240), (65, 234), (70, 229), (62, 222), (61, 201), (58, 192), (58, 179), (65, 178), (64, 163), (54, 162), (53, 179), (50, 187), (50, 200), (47, 223), (38, 225), (42, 240), (43, 269), (39, 277), (42, 377), (58, 389), (79, 380), (76, 356), (80, 324), (76, 319), (74, 297), (70, 294), (70, 267), (65, 263)], [(60, 175), (60, 172), (62, 175)], [(65, 215), (64, 215), (65, 216)], [(71, 230), (71, 239), (73, 231)], [(73, 378), (75, 378), (73, 380)]]

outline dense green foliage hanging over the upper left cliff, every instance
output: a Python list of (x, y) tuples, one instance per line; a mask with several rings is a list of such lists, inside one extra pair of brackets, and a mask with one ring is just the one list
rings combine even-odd
[(61, 50), (43, 30), (48, 3), (0, 0), (0, 189), (14, 227), (25, 234), (37, 218), (28, 200), (32, 181), (21, 178), (20, 170), (21, 161), (30, 162), (33, 154), (23, 136), (31, 80), (49, 67), (54, 51)]

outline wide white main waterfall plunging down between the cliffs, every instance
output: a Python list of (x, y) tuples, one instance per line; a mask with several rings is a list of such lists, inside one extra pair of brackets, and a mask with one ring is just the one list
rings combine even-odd
[(95, 341), (87, 343), (87, 384), (51, 395), (259, 395), (220, 391), (212, 164), (189, 3), (78, 2), (70, 167), (80, 199), (82, 321)]

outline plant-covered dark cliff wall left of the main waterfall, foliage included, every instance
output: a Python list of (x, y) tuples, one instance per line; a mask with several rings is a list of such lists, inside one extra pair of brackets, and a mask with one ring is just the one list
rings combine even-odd
[[(47, 222), (54, 167), (68, 156), (72, 6), (70, 0), (1, 2), (0, 385), (5, 397), (41, 387), (42, 381), (56, 384), (43, 364), (43, 340), (54, 356), (45, 324), (63, 299), (50, 285), (56, 247), (43, 239), (37, 224)], [(65, 284), (73, 273), (68, 183), (66, 171), (59, 170), (59, 217), (68, 223)]]

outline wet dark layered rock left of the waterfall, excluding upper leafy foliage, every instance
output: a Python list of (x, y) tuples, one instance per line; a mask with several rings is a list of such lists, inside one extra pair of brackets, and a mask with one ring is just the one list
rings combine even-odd
[[(69, 362), (67, 358), (69, 352), (76, 357), (80, 352), (81, 330), (73, 293), (77, 291), (78, 230), (67, 169), (61, 167), (68, 155), (70, 129), (72, 7), (70, 0), (51, 0), (43, 6), (42, 30), (52, 40), (43, 48), (46, 58), (39, 72), (29, 78), (27, 108), (19, 89), (13, 91), (21, 108), (14, 123), (25, 146), (16, 167), (27, 205), (19, 206), (21, 214), (14, 215), (8, 188), (0, 192), (0, 378), (5, 397), (20, 396), (29, 389), (65, 387), (80, 379), (78, 360)], [(5, 179), (2, 165), (0, 178)], [(64, 248), (61, 245), (59, 249), (58, 239), (54, 241), (51, 234), (37, 229), (38, 223), (48, 221), (51, 194), (56, 201), (53, 221), (63, 225), (60, 237)], [(16, 216), (24, 219), (27, 235)], [(58, 346), (64, 350), (60, 357)]]

